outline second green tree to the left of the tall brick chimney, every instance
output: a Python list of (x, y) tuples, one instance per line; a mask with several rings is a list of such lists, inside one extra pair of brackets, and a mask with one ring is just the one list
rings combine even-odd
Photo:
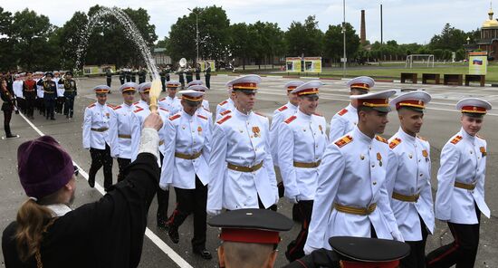
[(323, 33), (318, 28), (315, 16), (308, 16), (304, 24), (292, 22), (285, 33), (287, 55), (320, 56), (322, 53), (322, 38)]

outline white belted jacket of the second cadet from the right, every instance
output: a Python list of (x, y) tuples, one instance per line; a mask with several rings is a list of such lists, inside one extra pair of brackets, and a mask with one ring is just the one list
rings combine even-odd
[(391, 208), (405, 241), (420, 241), (420, 217), (428, 231), (431, 234), (434, 232), (430, 145), (426, 140), (410, 136), (403, 129), (399, 129), (389, 139), (389, 148), (396, 155), (396, 167), (388, 172), (389, 196), (392, 196), (393, 192), (403, 196), (419, 195), (417, 202), (391, 198)]

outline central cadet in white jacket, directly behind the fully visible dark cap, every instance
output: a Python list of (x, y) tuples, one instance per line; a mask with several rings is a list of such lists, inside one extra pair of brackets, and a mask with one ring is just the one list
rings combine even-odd
[(254, 113), (261, 78), (246, 75), (229, 82), (236, 109), (215, 123), (209, 161), (207, 213), (222, 208), (276, 209), (278, 191), (270, 149), (268, 119)]

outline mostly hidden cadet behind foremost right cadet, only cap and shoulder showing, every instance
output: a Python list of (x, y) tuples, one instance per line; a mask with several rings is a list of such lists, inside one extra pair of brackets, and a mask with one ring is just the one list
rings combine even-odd
[[(375, 85), (375, 81), (368, 76), (360, 76), (348, 81), (350, 95), (363, 95), (369, 93)], [(346, 108), (338, 111), (330, 120), (329, 141), (334, 142), (336, 139), (346, 135), (358, 124), (357, 101), (351, 99)]]

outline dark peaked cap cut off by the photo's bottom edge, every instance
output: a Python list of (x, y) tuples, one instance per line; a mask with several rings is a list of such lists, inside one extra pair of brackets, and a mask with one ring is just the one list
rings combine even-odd
[(343, 268), (397, 268), (410, 253), (408, 244), (387, 239), (334, 236), (329, 244)]

